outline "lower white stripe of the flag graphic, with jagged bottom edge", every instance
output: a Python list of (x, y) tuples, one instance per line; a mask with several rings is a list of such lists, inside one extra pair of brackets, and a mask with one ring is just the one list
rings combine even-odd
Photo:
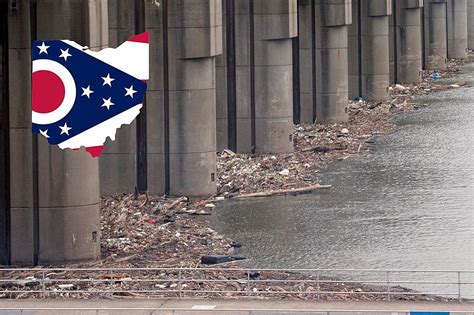
[[(80, 134), (69, 138), (68, 140), (61, 142), (59, 147), (61, 149), (78, 149), (82, 146), (85, 147), (96, 147), (104, 145), (107, 137), (110, 137), (112, 141), (115, 140), (115, 134), (117, 129), (122, 125), (129, 125), (140, 114), (140, 109), (143, 104), (135, 105), (134, 107), (127, 109), (120, 114), (89, 128)], [(74, 128), (74, 126), (71, 126)]]

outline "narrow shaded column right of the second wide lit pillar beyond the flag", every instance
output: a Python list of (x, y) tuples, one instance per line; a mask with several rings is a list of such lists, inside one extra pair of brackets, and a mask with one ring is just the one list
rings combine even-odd
[(313, 0), (300, 0), (298, 2), (298, 37), (300, 48), (300, 121), (302, 123), (314, 123), (316, 116), (313, 107), (313, 34), (312, 16)]

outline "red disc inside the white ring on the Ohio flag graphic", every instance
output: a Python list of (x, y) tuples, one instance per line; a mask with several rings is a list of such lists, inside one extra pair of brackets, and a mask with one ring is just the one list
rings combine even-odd
[(45, 114), (56, 110), (64, 100), (63, 81), (55, 73), (47, 70), (34, 72), (32, 80), (33, 111)]

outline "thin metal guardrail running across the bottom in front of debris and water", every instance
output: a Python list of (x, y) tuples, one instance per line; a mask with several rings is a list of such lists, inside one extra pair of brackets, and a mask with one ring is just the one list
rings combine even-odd
[(297, 297), (463, 300), (473, 270), (33, 268), (0, 269), (0, 297)]

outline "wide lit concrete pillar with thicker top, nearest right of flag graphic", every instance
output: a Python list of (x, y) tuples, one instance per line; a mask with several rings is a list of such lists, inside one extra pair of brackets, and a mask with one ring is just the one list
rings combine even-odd
[(215, 56), (221, 0), (169, 1), (170, 193), (216, 191)]

